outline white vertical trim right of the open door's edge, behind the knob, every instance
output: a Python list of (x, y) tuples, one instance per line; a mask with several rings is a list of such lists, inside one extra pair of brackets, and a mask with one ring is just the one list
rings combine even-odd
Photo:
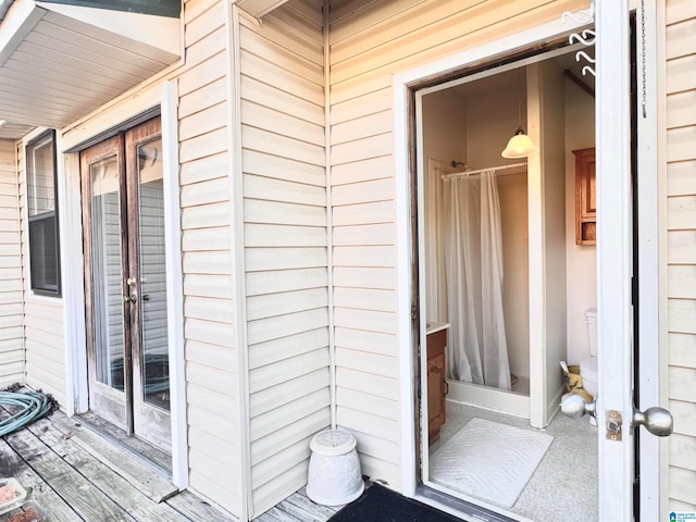
[[(637, 26), (641, 26), (641, 7), (636, 8)], [(666, 195), (663, 154), (666, 134), (664, 114), (664, 49), (658, 41), (664, 41), (664, 2), (645, 1), (645, 65), (646, 65), (646, 114), (642, 115), (638, 104), (637, 117), (637, 176), (638, 176), (638, 245), (641, 259), (638, 266), (638, 301), (641, 322), (638, 335), (639, 403), (644, 411), (651, 406), (667, 406), (667, 330), (660, 327), (664, 321), (667, 270), (660, 266), (660, 258), (667, 252), (667, 238), (660, 234), (659, 223), (666, 223), (664, 206), (660, 204)], [(636, 32), (637, 33), (637, 32)], [(637, 63), (642, 63), (641, 35), (636, 34)], [(642, 74), (638, 74), (638, 92), (642, 89)], [(638, 99), (638, 102), (641, 100)], [(661, 160), (661, 161), (660, 161)], [(660, 321), (660, 319), (662, 321)], [(641, 436), (641, 517), (643, 520), (659, 520), (660, 513), (668, 512), (667, 484), (669, 445), (664, 437), (645, 434)], [(662, 484), (662, 490), (660, 488)]]

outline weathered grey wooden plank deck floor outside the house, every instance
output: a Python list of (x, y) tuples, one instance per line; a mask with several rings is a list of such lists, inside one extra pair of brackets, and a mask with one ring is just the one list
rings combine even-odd
[[(0, 439), (0, 476), (17, 478), (51, 522), (235, 521), (62, 412)], [(257, 522), (324, 522), (336, 510), (300, 490)]]

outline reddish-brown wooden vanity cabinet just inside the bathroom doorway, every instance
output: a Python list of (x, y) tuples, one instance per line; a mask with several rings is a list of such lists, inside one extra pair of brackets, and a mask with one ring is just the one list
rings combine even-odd
[(426, 336), (427, 340), (427, 435), (432, 444), (439, 437), (445, 424), (447, 382), (445, 374), (445, 347), (447, 330), (440, 330)]

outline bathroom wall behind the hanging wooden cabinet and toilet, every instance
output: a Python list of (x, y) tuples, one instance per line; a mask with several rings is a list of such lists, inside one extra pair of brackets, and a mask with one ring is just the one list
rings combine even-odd
[(568, 361), (589, 355), (585, 310), (597, 306), (597, 262), (594, 245), (575, 245), (575, 156), (595, 146), (595, 99), (566, 80), (566, 260), (568, 266)]

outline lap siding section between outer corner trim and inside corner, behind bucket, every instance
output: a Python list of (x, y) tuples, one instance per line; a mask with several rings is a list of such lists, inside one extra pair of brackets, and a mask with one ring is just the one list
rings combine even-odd
[(304, 484), (331, 423), (322, 12), (240, 17), (249, 430), (257, 515)]

